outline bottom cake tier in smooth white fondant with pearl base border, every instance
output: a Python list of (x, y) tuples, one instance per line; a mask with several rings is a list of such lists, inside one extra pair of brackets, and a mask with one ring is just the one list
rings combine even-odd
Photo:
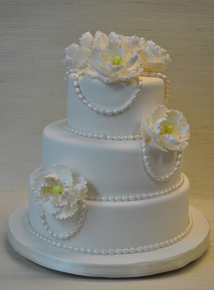
[(183, 185), (169, 194), (134, 201), (86, 199), (74, 216), (59, 220), (55, 215), (41, 214), (36, 205), (31, 185), (39, 171), (35, 170), (29, 180), (26, 224), (47, 243), (83, 253), (142, 252), (175, 243), (191, 227), (190, 185), (185, 175)]

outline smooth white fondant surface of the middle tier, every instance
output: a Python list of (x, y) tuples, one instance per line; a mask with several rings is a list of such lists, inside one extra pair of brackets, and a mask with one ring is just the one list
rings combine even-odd
[[(182, 163), (172, 178), (156, 181), (147, 171), (141, 140), (101, 140), (78, 136), (63, 129), (64, 121), (48, 125), (42, 135), (42, 171), (64, 163), (73, 176), (87, 180), (88, 195), (130, 196), (172, 189), (179, 182)], [(177, 151), (147, 146), (151, 167), (162, 176), (174, 167)], [(182, 161), (181, 161), (182, 162)]]

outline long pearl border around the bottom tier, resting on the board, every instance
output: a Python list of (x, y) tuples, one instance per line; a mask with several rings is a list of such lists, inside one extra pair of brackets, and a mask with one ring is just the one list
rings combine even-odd
[(29, 222), (29, 213), (26, 213), (25, 219), (24, 219), (26, 228), (30, 234), (38, 238), (39, 240), (43, 241), (44, 243), (47, 243), (49, 245), (55, 246), (57, 248), (63, 248), (65, 250), (70, 250), (73, 252), (81, 252), (81, 253), (88, 253), (88, 254), (128, 254), (128, 253), (135, 253), (135, 252), (147, 252), (147, 251), (152, 251), (155, 249), (160, 249), (169, 245), (173, 245), (174, 243), (177, 243), (178, 241), (182, 240), (184, 237), (188, 235), (188, 233), (192, 229), (192, 216), (188, 215), (188, 225), (186, 229), (181, 232), (179, 235), (175, 236), (174, 238), (170, 240), (166, 240), (164, 242), (160, 243), (155, 243), (151, 245), (145, 245), (145, 246), (140, 246), (140, 247), (131, 247), (131, 248), (124, 248), (124, 249), (90, 249), (90, 248), (83, 248), (83, 247), (76, 247), (74, 245), (67, 245), (63, 244), (62, 242), (58, 242), (52, 239), (49, 239), (48, 237), (40, 234), (38, 231), (36, 231), (30, 224)]

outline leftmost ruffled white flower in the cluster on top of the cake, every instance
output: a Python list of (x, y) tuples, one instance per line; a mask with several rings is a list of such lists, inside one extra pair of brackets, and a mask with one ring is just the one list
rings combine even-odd
[(82, 37), (79, 38), (80, 45), (73, 43), (65, 49), (66, 56), (63, 59), (63, 63), (69, 68), (85, 68), (86, 59), (89, 56), (90, 49), (93, 45), (94, 38), (88, 31), (83, 33)]

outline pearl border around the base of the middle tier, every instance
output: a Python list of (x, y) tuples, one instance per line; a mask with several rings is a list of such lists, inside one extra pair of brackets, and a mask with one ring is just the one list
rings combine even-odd
[(125, 195), (125, 196), (116, 196), (116, 197), (108, 197), (108, 196), (100, 196), (100, 195), (87, 195), (85, 199), (89, 200), (97, 200), (97, 201), (133, 201), (133, 200), (141, 200), (141, 199), (148, 199), (148, 198), (154, 198), (154, 197), (160, 197), (166, 194), (169, 194), (171, 192), (174, 192), (175, 190), (179, 189), (184, 183), (184, 177), (181, 173), (180, 180), (176, 185), (174, 185), (172, 188), (168, 188), (166, 190), (162, 190), (155, 193), (145, 193), (145, 194), (138, 194), (138, 195)]

